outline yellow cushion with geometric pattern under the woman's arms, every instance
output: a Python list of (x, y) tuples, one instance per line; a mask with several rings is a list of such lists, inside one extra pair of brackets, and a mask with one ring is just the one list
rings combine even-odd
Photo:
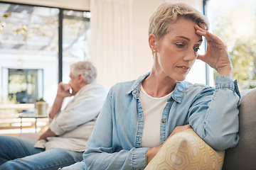
[(192, 129), (169, 138), (145, 170), (222, 169), (224, 151), (216, 152)]

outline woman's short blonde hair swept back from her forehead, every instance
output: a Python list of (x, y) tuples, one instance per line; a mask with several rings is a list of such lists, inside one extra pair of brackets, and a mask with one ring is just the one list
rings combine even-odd
[(195, 8), (187, 4), (165, 2), (156, 9), (149, 19), (149, 35), (154, 34), (157, 39), (163, 38), (166, 33), (169, 33), (170, 24), (174, 23), (178, 17), (187, 18), (197, 24), (202, 23), (208, 29), (207, 18)]

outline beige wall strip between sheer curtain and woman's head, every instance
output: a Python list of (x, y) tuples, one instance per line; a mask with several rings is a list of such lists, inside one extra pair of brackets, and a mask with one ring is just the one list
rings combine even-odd
[(132, 9), (132, 33), (134, 79), (149, 72), (153, 63), (148, 43), (149, 18), (159, 6), (159, 0), (134, 0)]

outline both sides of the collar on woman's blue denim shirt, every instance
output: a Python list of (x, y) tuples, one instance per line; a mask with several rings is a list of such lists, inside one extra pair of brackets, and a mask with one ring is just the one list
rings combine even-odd
[[(132, 84), (132, 88), (127, 91), (125, 94), (132, 94), (134, 98), (139, 98), (139, 90), (140, 85), (142, 84), (142, 81), (148, 77), (150, 72), (144, 74), (143, 76), (139, 77), (136, 81), (134, 81), (134, 84)], [(184, 91), (186, 90), (186, 81), (177, 81), (176, 86), (174, 88), (174, 93), (171, 94), (171, 96), (168, 98), (168, 101), (171, 101), (171, 98), (174, 99), (174, 101), (178, 103), (182, 103)]]

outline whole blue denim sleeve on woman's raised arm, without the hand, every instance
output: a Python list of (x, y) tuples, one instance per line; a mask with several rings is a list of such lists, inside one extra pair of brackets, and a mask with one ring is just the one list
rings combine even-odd
[(203, 89), (196, 96), (189, 109), (189, 124), (213, 149), (235, 147), (239, 140), (239, 101), (236, 81), (218, 76), (215, 91)]

